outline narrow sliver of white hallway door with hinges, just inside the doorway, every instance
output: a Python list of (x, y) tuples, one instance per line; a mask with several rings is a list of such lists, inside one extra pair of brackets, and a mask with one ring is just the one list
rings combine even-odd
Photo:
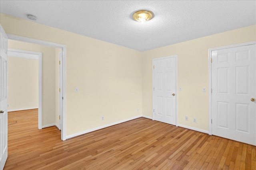
[[(62, 63), (62, 53), (59, 53), (59, 61)], [(60, 130), (62, 130), (62, 64), (59, 63), (59, 115), (60, 115)]]

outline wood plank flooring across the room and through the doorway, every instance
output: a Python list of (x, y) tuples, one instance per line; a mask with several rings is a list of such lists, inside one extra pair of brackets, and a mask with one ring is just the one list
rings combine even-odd
[(38, 130), (37, 114), (8, 113), (4, 170), (256, 170), (255, 146), (221, 137), (138, 118), (61, 141), (56, 127)]

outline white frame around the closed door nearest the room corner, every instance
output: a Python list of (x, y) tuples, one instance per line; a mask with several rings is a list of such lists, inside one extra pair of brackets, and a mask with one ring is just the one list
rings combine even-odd
[(154, 115), (154, 103), (153, 103), (153, 97), (154, 97), (154, 61), (156, 60), (161, 60), (161, 59), (168, 59), (168, 58), (173, 58), (175, 57), (176, 59), (176, 89), (175, 89), (175, 95), (176, 95), (176, 126), (178, 127), (178, 93), (177, 93), (177, 87), (178, 87), (178, 55), (171, 55), (167, 57), (160, 57), (160, 58), (154, 58), (152, 59), (152, 120), (155, 120), (155, 115)]

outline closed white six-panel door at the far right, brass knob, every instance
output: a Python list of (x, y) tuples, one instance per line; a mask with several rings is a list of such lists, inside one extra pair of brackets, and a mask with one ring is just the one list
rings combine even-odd
[(212, 134), (251, 145), (256, 145), (255, 47), (212, 51)]

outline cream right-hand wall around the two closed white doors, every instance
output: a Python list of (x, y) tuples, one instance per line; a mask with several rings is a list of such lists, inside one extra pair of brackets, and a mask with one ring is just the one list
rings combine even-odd
[[(152, 59), (178, 55), (177, 89), (182, 87), (178, 90), (178, 125), (208, 131), (208, 49), (255, 40), (256, 25), (252, 25), (143, 52), (142, 114), (152, 117)], [(207, 92), (202, 92), (203, 87)]]

